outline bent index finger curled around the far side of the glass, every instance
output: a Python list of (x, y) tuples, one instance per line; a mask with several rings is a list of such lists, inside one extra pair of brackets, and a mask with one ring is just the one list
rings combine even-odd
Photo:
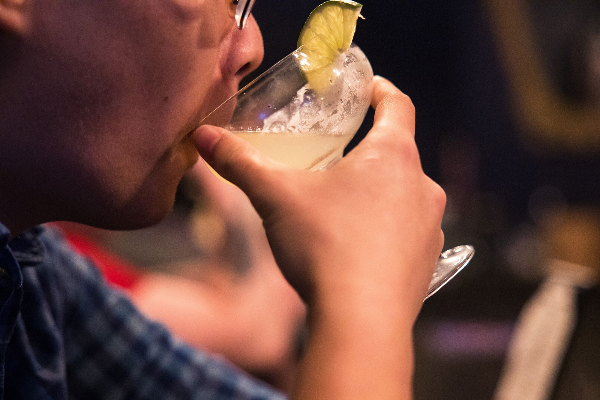
[(410, 98), (389, 80), (373, 77), (373, 99), (371, 106), (375, 109), (373, 130), (393, 128), (398, 133), (415, 137), (415, 106)]

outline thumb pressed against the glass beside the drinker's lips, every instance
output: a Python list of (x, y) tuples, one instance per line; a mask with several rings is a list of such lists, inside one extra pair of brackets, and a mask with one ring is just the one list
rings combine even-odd
[(283, 166), (261, 154), (244, 139), (223, 128), (202, 125), (194, 133), (194, 142), (200, 157), (244, 191), (253, 203), (263, 203), (271, 188), (277, 187), (275, 172)]

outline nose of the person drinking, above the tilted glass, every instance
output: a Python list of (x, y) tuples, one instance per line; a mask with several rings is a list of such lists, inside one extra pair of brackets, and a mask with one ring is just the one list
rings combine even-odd
[(265, 55), (262, 35), (254, 17), (248, 17), (241, 31), (233, 28), (227, 42), (229, 46), (222, 49), (226, 54), (221, 56), (221, 73), (224, 77), (242, 80), (259, 67)]

